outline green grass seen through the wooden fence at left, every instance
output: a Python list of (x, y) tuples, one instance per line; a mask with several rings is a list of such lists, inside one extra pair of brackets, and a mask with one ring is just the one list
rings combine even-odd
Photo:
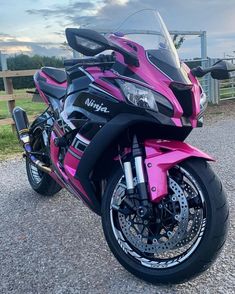
[[(16, 90), (14, 93), (24, 93), (26, 90)], [(0, 94), (3, 92), (0, 91)], [(45, 110), (46, 105), (43, 102), (32, 102), (31, 99), (16, 100), (16, 105), (22, 107), (28, 115), (36, 115)], [(0, 119), (10, 118), (7, 102), (0, 101)], [(19, 146), (17, 135), (12, 132), (11, 126), (0, 126), (0, 160), (3, 160), (13, 154), (22, 152)]]

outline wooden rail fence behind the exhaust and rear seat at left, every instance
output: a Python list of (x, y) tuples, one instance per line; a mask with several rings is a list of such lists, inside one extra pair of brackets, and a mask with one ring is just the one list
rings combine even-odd
[[(0, 71), (0, 78), (3, 78), (4, 81), (4, 87), (6, 94), (1, 95), (0, 94), (0, 101), (6, 101), (8, 105), (9, 113), (12, 114), (12, 111), (15, 107), (15, 101), (19, 99), (32, 99), (33, 94), (29, 93), (22, 93), (22, 94), (14, 94), (14, 88), (12, 83), (12, 78), (14, 77), (28, 77), (33, 76), (36, 72), (36, 69), (30, 69), (30, 70), (4, 70)], [(31, 121), (35, 116), (29, 116), (29, 120)], [(5, 118), (0, 119), (0, 126), (3, 125), (11, 125), (12, 130), (15, 130), (15, 124), (12, 118)]]

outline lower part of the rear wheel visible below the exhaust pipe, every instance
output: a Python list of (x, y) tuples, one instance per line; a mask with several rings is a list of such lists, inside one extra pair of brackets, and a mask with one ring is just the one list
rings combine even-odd
[(62, 189), (49, 174), (38, 170), (28, 158), (26, 158), (26, 171), (30, 186), (38, 194), (53, 196)]

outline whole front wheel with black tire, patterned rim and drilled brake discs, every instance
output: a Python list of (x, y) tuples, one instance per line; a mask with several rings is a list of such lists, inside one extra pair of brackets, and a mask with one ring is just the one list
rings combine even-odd
[[(198, 158), (168, 174), (169, 194), (152, 204), (148, 219), (125, 206), (121, 167), (102, 202), (107, 243), (132, 274), (151, 283), (180, 283), (206, 270), (220, 252), (228, 228), (228, 205), (218, 177)], [(138, 206), (136, 196), (130, 199)]]

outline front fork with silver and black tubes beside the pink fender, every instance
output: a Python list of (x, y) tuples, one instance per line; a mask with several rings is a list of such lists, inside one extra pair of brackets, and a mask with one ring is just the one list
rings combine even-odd
[[(132, 157), (134, 159), (134, 166), (137, 179), (136, 188), (138, 192), (138, 198), (140, 200), (140, 205), (137, 208), (137, 214), (140, 217), (147, 217), (149, 215), (150, 203), (148, 200), (147, 182), (144, 170), (144, 152), (136, 136), (134, 136), (133, 138)], [(135, 186), (131, 161), (129, 161), (128, 159), (124, 159), (123, 169), (126, 179), (126, 193), (127, 195), (134, 195)]]

